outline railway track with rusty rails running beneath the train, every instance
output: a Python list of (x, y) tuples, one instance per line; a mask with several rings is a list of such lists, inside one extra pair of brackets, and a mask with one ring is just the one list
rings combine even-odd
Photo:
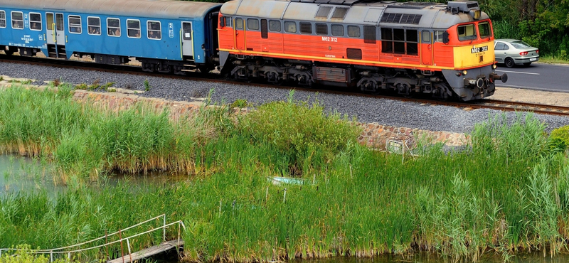
[(135, 65), (102, 65), (92, 62), (85, 62), (80, 60), (55, 60), (51, 58), (29, 58), (29, 57), (21, 57), (17, 55), (7, 56), (7, 55), (0, 55), (0, 62), (6, 63), (26, 63), (26, 64), (33, 64), (33, 65), (44, 65), (49, 67), (59, 67), (59, 68), (80, 68), (84, 70), (100, 70), (105, 72), (111, 73), (127, 73), (127, 74), (135, 74), (135, 75), (147, 75), (147, 76), (154, 76), (154, 77), (170, 77), (170, 78), (177, 78), (177, 79), (186, 79), (186, 80), (196, 80), (196, 81), (208, 81), (208, 82), (220, 82), (220, 83), (227, 83), (233, 85), (252, 85), (257, 87), (273, 87), (279, 89), (286, 89), (286, 90), (304, 90), (309, 92), (319, 92), (319, 93), (332, 93), (332, 94), (339, 94), (339, 95), (346, 95), (346, 96), (358, 96), (358, 97), (373, 97), (373, 98), (383, 98), (389, 100), (400, 100), (403, 102), (415, 102), (420, 104), (430, 104), (430, 105), (443, 105), (443, 106), (450, 106), (450, 107), (459, 107), (465, 110), (472, 110), (472, 109), (496, 109), (504, 112), (535, 112), (538, 114), (550, 114), (550, 115), (559, 115), (559, 116), (569, 116), (569, 107), (557, 106), (557, 105), (548, 105), (548, 104), (536, 104), (536, 103), (528, 103), (528, 102), (511, 102), (511, 101), (504, 101), (504, 100), (492, 100), (484, 99), (478, 100), (473, 102), (450, 102), (450, 101), (437, 101), (437, 100), (428, 100), (422, 98), (415, 98), (415, 97), (398, 97), (393, 95), (371, 95), (371, 94), (363, 94), (359, 92), (351, 92), (346, 90), (324, 90), (319, 88), (307, 88), (307, 87), (292, 87), (292, 86), (284, 86), (284, 85), (270, 85), (266, 83), (256, 83), (256, 82), (238, 82), (235, 80), (220, 80), (216, 77), (218, 75), (214, 74), (201, 74), (201, 73), (186, 73), (186, 75), (173, 75), (173, 74), (164, 74), (164, 73), (147, 73), (143, 72), (142, 68), (139, 68)]

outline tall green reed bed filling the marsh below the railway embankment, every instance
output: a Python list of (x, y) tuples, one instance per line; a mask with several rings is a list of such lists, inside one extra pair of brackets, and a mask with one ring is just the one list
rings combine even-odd
[[(473, 143), (465, 149), (420, 146), (417, 156), (402, 159), (357, 144), (353, 134), (358, 128), (337, 114), (324, 114), (317, 104), (289, 100), (258, 111), (238, 122), (220, 112), (208, 113), (203, 116), (218, 121), (202, 117), (195, 122), (199, 125), (185, 126), (211, 125), (205, 130), (169, 128), (168, 123), (174, 124), (162, 119), (166, 114), (146, 117), (142, 109), (123, 119), (100, 114), (97, 122), (59, 128), (68, 135), (50, 143), (46, 136), (46, 143), (38, 145), (43, 151), (49, 144), (56, 161), (71, 163), (60, 164), (62, 169), (128, 172), (147, 166), (191, 171), (191, 180), (168, 186), (79, 184), (55, 199), (41, 191), (6, 195), (0, 198), (0, 247), (70, 245), (161, 213), (184, 220), (184, 254), (195, 262), (419, 251), (476, 262), (486, 254), (506, 260), (521, 251), (554, 256), (567, 245), (568, 162), (564, 151), (552, 150), (544, 125), (531, 114), (520, 114), (514, 123), (492, 117), (474, 127)], [(4, 119), (0, 130), (3, 125)], [(138, 130), (151, 135), (137, 137)], [(184, 147), (173, 146), (172, 140)], [(59, 161), (63, 144), (68, 153), (95, 156), (93, 163), (76, 168), (73, 163), (80, 162), (73, 161), (75, 154), (64, 155), (68, 162)], [(149, 156), (166, 156), (168, 161)], [(176, 168), (177, 163), (191, 170)], [(294, 176), (304, 183), (274, 185), (268, 180), (273, 176)], [(168, 235), (175, 237), (175, 230)], [(142, 248), (159, 241), (151, 236), (133, 242)], [(120, 253), (119, 247), (110, 250), (111, 255)]]

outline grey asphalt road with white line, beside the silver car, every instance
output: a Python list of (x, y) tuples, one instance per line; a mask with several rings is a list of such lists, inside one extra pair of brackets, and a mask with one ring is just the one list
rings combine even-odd
[(496, 81), (496, 87), (517, 87), (530, 90), (569, 92), (569, 65), (532, 63), (514, 68), (498, 64), (496, 73), (508, 74), (508, 82)]

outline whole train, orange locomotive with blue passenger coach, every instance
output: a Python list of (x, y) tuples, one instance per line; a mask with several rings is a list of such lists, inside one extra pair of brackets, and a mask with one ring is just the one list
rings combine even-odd
[(440, 100), (480, 100), (508, 78), (468, 0), (0, 0), (0, 50)]

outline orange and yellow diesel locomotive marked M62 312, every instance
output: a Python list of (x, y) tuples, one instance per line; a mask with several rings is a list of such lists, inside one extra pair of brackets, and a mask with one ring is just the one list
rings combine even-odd
[(218, 24), (222, 72), (477, 100), (494, 94), (494, 34), (477, 1), (233, 0)]

